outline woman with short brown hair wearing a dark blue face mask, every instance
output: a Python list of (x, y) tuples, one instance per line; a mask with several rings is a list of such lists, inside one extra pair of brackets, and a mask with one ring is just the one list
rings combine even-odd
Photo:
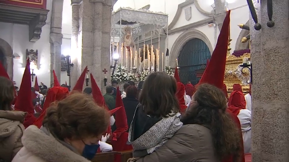
[(24, 131), (12, 162), (89, 162), (109, 125), (109, 113), (92, 97), (73, 93), (47, 109), (43, 126)]

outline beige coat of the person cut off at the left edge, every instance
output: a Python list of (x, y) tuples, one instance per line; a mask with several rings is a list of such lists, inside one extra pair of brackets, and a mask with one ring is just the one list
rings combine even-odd
[(24, 118), (22, 111), (0, 110), (0, 160), (11, 161), (23, 147)]

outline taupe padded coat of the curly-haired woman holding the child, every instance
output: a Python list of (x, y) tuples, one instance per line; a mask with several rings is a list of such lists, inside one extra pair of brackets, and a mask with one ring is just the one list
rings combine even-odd
[[(153, 137), (152, 137), (153, 138)], [(218, 162), (208, 128), (184, 125), (163, 146), (136, 162)]]

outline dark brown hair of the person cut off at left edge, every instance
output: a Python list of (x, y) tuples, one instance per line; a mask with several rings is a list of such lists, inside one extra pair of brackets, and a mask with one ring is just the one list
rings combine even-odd
[(0, 76), (0, 110), (11, 110), (11, 103), (14, 100), (13, 82)]

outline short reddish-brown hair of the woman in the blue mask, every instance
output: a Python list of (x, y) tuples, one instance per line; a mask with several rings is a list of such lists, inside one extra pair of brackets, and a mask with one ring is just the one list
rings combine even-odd
[(99, 136), (109, 124), (107, 110), (95, 104), (90, 95), (74, 92), (47, 109), (43, 126), (59, 140)]

